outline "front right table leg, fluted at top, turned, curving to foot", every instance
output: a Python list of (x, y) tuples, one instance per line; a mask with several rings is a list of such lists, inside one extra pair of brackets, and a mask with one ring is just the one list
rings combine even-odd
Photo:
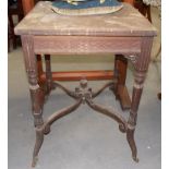
[(137, 59), (133, 61), (133, 65), (135, 69), (134, 86), (133, 86), (133, 94), (132, 94), (131, 111), (128, 120), (126, 140), (132, 150), (132, 157), (135, 161), (138, 161), (138, 158), (137, 158), (137, 149), (134, 141), (134, 132), (136, 126), (138, 105), (140, 105), (140, 100), (143, 92), (143, 84), (145, 81), (146, 72), (150, 60), (152, 41), (153, 41), (153, 38), (150, 37), (149, 38), (146, 37), (143, 39), (142, 52), (137, 57)]

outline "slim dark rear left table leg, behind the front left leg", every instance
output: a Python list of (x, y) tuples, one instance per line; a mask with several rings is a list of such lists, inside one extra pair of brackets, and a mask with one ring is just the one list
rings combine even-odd
[(50, 55), (45, 55), (45, 64), (46, 64), (47, 95), (49, 95), (50, 90), (53, 88), (53, 85), (52, 85), (52, 74), (51, 74), (51, 63), (50, 63)]

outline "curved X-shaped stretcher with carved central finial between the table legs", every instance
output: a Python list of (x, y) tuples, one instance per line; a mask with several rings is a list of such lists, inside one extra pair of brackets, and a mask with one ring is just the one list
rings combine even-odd
[(50, 125), (58, 119), (62, 118), (63, 116), (67, 116), (77, 109), (81, 104), (87, 104), (92, 109), (96, 110), (97, 112), (100, 112), (102, 114), (106, 114), (113, 120), (116, 120), (119, 123), (119, 129), (121, 132), (126, 132), (128, 130), (128, 122), (125, 119), (120, 116), (119, 113), (107, 109), (106, 107), (94, 102), (93, 98), (99, 95), (105, 88), (107, 87), (112, 87), (114, 82), (109, 82), (106, 85), (104, 85), (97, 92), (93, 93), (92, 88), (87, 86), (87, 80), (81, 80), (80, 86), (75, 88), (74, 92), (69, 90), (68, 88), (63, 87), (59, 83), (53, 83), (56, 87), (59, 87), (63, 89), (69, 96), (73, 97), (76, 101), (75, 104), (63, 108), (61, 110), (58, 110), (53, 114), (51, 114), (44, 123), (43, 129), (44, 129), (44, 134), (48, 134), (50, 132)]

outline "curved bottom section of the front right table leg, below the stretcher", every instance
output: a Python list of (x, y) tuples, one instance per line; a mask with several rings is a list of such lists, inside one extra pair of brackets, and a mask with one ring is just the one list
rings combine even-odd
[(138, 162), (138, 158), (136, 157), (137, 156), (137, 149), (136, 149), (136, 145), (135, 145), (135, 141), (134, 141), (134, 129), (128, 129), (126, 131), (126, 140), (128, 140), (128, 143), (130, 145), (130, 148), (132, 150), (132, 157), (133, 157), (133, 160)]

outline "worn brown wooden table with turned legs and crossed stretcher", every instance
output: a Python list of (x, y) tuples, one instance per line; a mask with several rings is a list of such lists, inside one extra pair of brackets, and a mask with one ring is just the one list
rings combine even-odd
[[(87, 104), (97, 112), (104, 113), (117, 121), (120, 131), (126, 133), (133, 159), (138, 161), (134, 132), (156, 29), (133, 7), (126, 3), (123, 3), (123, 9), (116, 13), (90, 16), (58, 15), (50, 9), (50, 4), (51, 2), (38, 2), (15, 27), (15, 34), (21, 35), (22, 38), (36, 128), (36, 143), (32, 166), (36, 165), (44, 135), (50, 132), (50, 125), (56, 120), (77, 109), (81, 104)], [(45, 55), (45, 73), (41, 68), (41, 53)], [(85, 71), (81, 73), (74, 72), (73, 75), (68, 72), (53, 73), (50, 67), (50, 55), (52, 53), (114, 53), (117, 55), (114, 73), (105, 72), (102, 74), (99, 71), (93, 72), (92, 75), (92, 72)], [(126, 65), (125, 59), (131, 61), (134, 68), (134, 84), (128, 121), (118, 112), (112, 112), (94, 101), (94, 98), (107, 87), (113, 90), (116, 96), (121, 90), (125, 90), (124, 93), (126, 94), (125, 87), (121, 87), (119, 84), (119, 82), (124, 82), (124, 79), (121, 80), (121, 73), (125, 73), (125, 70), (119, 71), (119, 64)], [(112, 81), (106, 83), (96, 92), (88, 87), (87, 80), (102, 80), (105, 76), (110, 77)], [(75, 90), (70, 90), (58, 83), (59, 80), (80, 80), (80, 86)], [(44, 102), (46, 97), (56, 87), (63, 89), (69, 96), (73, 97), (75, 104), (58, 110), (44, 120)]]

